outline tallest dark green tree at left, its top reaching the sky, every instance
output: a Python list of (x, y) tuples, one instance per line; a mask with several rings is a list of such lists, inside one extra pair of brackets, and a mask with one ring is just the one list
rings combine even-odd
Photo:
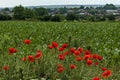
[(23, 6), (16, 6), (13, 8), (13, 12), (14, 12), (14, 19), (18, 19), (18, 20), (24, 20), (24, 7)]

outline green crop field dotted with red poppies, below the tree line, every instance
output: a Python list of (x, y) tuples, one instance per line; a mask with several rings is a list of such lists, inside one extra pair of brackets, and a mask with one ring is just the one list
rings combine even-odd
[(0, 80), (41, 78), (120, 80), (120, 23), (0, 21)]

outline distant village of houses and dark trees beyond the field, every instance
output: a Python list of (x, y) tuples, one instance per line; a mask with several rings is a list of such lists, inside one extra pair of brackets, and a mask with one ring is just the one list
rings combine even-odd
[(63, 21), (63, 20), (88, 20), (88, 21), (120, 21), (120, 7), (113, 4), (104, 6), (84, 6), (59, 8), (45, 7), (23, 7), (16, 6), (12, 9), (2, 8), (0, 20), (41, 20), (41, 21)]

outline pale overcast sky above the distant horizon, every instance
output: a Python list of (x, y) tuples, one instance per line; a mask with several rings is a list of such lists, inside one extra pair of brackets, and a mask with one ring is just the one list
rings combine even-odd
[(120, 0), (0, 0), (0, 7), (106, 3), (120, 4)]

